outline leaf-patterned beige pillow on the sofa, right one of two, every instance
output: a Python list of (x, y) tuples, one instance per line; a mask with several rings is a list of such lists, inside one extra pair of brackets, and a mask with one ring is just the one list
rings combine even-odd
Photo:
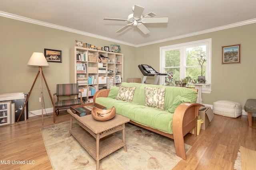
[(164, 109), (165, 88), (145, 88), (145, 106)]

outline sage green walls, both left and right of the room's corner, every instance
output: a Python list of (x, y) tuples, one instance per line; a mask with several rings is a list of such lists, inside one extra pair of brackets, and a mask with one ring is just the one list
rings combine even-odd
[[(76, 39), (98, 47), (115, 43), (4, 17), (0, 17), (0, 23), (0, 94), (29, 92), (38, 72), (38, 67), (27, 65), (33, 52), (44, 53), (44, 49), (62, 51), (62, 63), (49, 63), (49, 66), (43, 67), (53, 94), (56, 92), (56, 84), (69, 83), (69, 49), (74, 46)], [(149, 64), (160, 70), (159, 48), (162, 46), (212, 38), (212, 92), (202, 94), (203, 103), (212, 105), (217, 100), (232, 100), (239, 102), (243, 107), (246, 99), (256, 98), (256, 80), (253, 79), (256, 71), (255, 29), (256, 24), (249, 24), (142, 47), (117, 43), (124, 54), (124, 81), (129, 77), (143, 78), (138, 64)], [(241, 44), (241, 63), (222, 64), (222, 46), (235, 44)], [(149, 77), (147, 81), (153, 83), (154, 78)], [(39, 97), (38, 79), (29, 99), (29, 111), (40, 110)], [(52, 107), (46, 88), (44, 102), (45, 108)]]

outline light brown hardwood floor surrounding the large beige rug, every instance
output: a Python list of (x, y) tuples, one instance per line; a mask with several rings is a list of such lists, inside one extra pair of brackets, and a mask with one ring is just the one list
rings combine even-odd
[[(56, 117), (55, 123), (69, 120), (69, 114), (64, 114)], [(0, 127), (0, 169), (52, 169), (40, 131), (40, 127), (52, 124), (51, 115), (44, 116), (44, 125), (41, 117), (34, 116)], [(174, 170), (233, 170), (240, 146), (256, 150), (256, 124), (253, 118), (252, 127), (248, 127), (244, 115), (238, 118), (214, 115), (211, 125), (201, 130), (198, 137), (188, 134), (184, 140), (192, 148), (187, 153), (187, 160), (181, 160)], [(25, 164), (21, 164), (24, 160)]]

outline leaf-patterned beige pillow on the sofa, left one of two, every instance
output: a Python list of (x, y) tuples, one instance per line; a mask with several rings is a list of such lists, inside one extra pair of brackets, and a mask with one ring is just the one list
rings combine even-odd
[(116, 96), (116, 100), (132, 102), (135, 88), (136, 87), (126, 87), (121, 85)]

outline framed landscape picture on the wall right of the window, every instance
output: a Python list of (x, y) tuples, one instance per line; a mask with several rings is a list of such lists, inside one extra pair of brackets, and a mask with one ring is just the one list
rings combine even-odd
[(241, 45), (230, 45), (222, 47), (222, 64), (241, 63)]

